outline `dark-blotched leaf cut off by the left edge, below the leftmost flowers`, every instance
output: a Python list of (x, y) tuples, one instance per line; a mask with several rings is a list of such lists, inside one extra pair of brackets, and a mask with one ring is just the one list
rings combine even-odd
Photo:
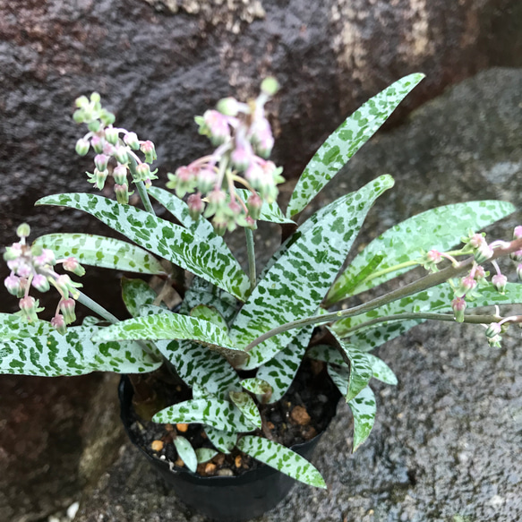
[[(17, 375), (82, 375), (90, 372), (141, 373), (157, 370), (161, 360), (133, 342), (93, 342), (102, 328), (76, 326), (60, 335), (43, 330), (38, 337), (0, 342), (0, 372)], [(21, 329), (15, 330), (24, 332)]]

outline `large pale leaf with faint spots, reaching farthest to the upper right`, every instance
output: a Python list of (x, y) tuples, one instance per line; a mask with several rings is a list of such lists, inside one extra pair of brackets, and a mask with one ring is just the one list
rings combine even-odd
[(478, 231), (514, 211), (515, 207), (507, 201), (471, 201), (438, 207), (408, 218), (374, 239), (355, 257), (331, 287), (325, 305), (330, 306), (350, 295), (381, 285), (416, 266), (377, 278), (366, 278), (357, 284), (355, 279), (359, 278), (360, 272), (378, 256), (384, 255), (379, 263), (380, 271), (406, 261), (415, 261), (432, 249), (445, 252), (459, 244), (460, 238), (467, 235), (470, 229)]

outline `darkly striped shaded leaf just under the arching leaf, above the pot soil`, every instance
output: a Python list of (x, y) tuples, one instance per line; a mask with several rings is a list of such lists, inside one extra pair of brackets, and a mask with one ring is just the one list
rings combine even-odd
[(156, 345), (189, 386), (198, 385), (221, 399), (227, 399), (229, 391), (242, 390), (234, 368), (218, 352), (185, 340), (158, 341)]

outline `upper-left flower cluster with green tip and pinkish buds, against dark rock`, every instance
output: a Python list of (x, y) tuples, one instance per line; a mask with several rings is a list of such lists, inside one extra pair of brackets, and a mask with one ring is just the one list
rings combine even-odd
[[(74, 121), (89, 127), (89, 133), (76, 142), (76, 152), (85, 156), (92, 147), (96, 157), (94, 172), (87, 173), (90, 183), (102, 190), (107, 176), (112, 174), (116, 200), (126, 204), (133, 193), (129, 192), (129, 173), (133, 183), (143, 182), (147, 187), (151, 180), (158, 179), (157, 170), (150, 170), (150, 165), (157, 159), (156, 149), (152, 141), (140, 141), (136, 133), (113, 127), (115, 116), (101, 107), (99, 100), (97, 92), (93, 92), (90, 99), (85, 96), (76, 99), (78, 109), (74, 112)], [(144, 160), (136, 153), (138, 150), (144, 155)]]

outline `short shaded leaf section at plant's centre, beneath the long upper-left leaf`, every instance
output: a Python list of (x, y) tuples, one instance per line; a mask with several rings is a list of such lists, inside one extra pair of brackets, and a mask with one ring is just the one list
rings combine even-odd
[(234, 321), (237, 313), (237, 301), (234, 295), (230, 295), (221, 288), (212, 285), (209, 281), (201, 278), (193, 278), (191, 287), (185, 292), (184, 301), (180, 313), (190, 315), (194, 306), (205, 304), (215, 308), (230, 324)]

